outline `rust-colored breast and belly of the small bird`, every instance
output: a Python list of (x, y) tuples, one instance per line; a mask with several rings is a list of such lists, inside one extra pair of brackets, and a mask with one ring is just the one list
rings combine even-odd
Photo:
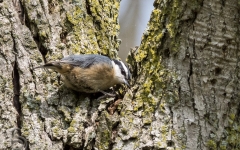
[(105, 64), (84, 69), (64, 64), (59, 72), (64, 76), (66, 86), (80, 92), (94, 93), (117, 84), (112, 66)]

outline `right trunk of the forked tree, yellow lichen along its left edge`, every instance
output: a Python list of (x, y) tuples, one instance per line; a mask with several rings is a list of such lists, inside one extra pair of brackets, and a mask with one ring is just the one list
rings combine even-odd
[(240, 149), (239, 2), (154, 6), (142, 44), (128, 58), (138, 67), (136, 92), (121, 112), (114, 147)]

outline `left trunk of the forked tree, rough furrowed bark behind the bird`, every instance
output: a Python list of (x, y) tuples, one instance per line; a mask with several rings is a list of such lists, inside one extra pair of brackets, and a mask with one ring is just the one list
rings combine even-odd
[[(22, 138), (29, 149), (109, 147), (102, 136), (110, 130), (100, 132), (112, 127), (106, 104), (101, 113), (92, 95), (68, 90), (55, 72), (33, 67), (69, 54), (116, 57), (118, 10), (118, 0), (0, 1), (0, 149)], [(13, 140), (16, 128), (21, 133)]]

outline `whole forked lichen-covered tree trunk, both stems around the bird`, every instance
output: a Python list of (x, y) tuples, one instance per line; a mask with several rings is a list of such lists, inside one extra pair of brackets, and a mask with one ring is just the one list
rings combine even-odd
[(154, 6), (131, 91), (100, 102), (32, 68), (116, 57), (119, 1), (0, 0), (0, 149), (240, 149), (238, 1)]

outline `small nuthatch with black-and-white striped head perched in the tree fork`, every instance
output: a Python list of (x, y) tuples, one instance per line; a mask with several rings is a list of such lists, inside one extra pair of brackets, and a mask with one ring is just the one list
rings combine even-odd
[(75, 91), (96, 93), (116, 84), (128, 84), (131, 74), (122, 62), (95, 54), (71, 55), (36, 68), (59, 72), (65, 85)]

